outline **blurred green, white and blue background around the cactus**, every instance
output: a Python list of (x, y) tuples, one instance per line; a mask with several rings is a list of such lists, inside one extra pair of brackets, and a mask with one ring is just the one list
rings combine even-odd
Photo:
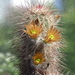
[[(31, 3), (35, 1), (37, 0), (29, 0)], [(67, 47), (64, 48), (67, 59), (65, 63), (69, 68), (69, 75), (75, 75), (75, 0), (49, 0), (49, 2), (54, 3), (62, 15), (60, 27), (63, 28), (63, 35), (67, 41)], [(11, 25), (15, 21), (10, 20), (12, 17), (9, 7), (21, 4), (24, 5), (24, 0), (0, 0), (0, 75), (17, 75), (13, 60), (15, 56), (11, 53), (13, 32)]]

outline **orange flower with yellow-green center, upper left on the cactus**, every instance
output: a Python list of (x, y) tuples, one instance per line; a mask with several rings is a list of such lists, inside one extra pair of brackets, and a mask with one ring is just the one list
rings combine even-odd
[[(33, 23), (34, 22), (34, 23)], [(26, 30), (23, 30), (25, 33), (31, 36), (31, 38), (36, 39), (39, 34), (42, 32), (42, 25), (37, 25), (35, 21), (32, 21), (30, 24), (26, 25)]]

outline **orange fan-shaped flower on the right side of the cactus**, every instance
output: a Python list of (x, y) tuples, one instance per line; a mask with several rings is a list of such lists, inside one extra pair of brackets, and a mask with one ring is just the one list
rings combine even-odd
[(57, 28), (51, 26), (44, 41), (46, 43), (52, 43), (58, 41), (59, 39), (61, 39), (60, 31), (58, 31)]

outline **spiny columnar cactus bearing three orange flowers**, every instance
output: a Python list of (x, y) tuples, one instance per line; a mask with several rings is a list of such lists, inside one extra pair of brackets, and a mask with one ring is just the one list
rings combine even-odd
[(38, 2), (21, 10), (16, 43), (19, 75), (64, 75), (60, 15)]

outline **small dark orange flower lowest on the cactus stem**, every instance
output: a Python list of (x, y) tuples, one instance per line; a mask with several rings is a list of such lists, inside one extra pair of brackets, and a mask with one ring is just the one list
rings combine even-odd
[(40, 52), (38, 52), (37, 54), (35, 54), (33, 57), (33, 63), (35, 65), (39, 65), (39, 64), (42, 64), (43, 62), (45, 62), (45, 58), (44, 58), (44, 55), (41, 54)]

